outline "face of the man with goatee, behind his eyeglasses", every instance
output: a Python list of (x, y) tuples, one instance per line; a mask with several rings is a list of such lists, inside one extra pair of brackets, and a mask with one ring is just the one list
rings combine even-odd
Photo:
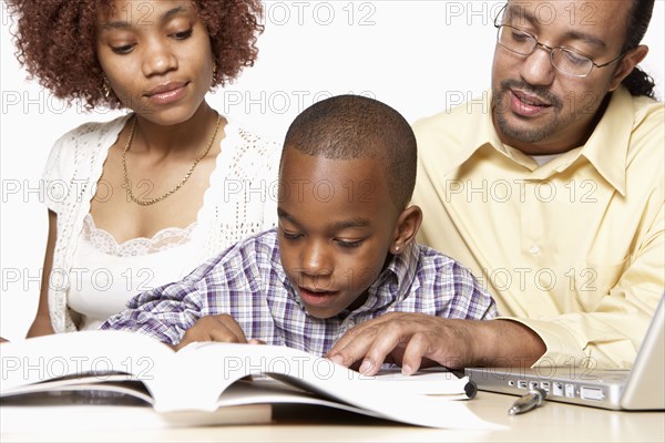
[[(509, 1), (501, 23), (603, 64), (621, 54), (631, 1)], [(520, 55), (499, 43), (492, 66), (493, 121), (502, 142), (526, 154), (553, 154), (583, 144), (620, 61), (586, 78), (557, 71), (550, 51)]]

